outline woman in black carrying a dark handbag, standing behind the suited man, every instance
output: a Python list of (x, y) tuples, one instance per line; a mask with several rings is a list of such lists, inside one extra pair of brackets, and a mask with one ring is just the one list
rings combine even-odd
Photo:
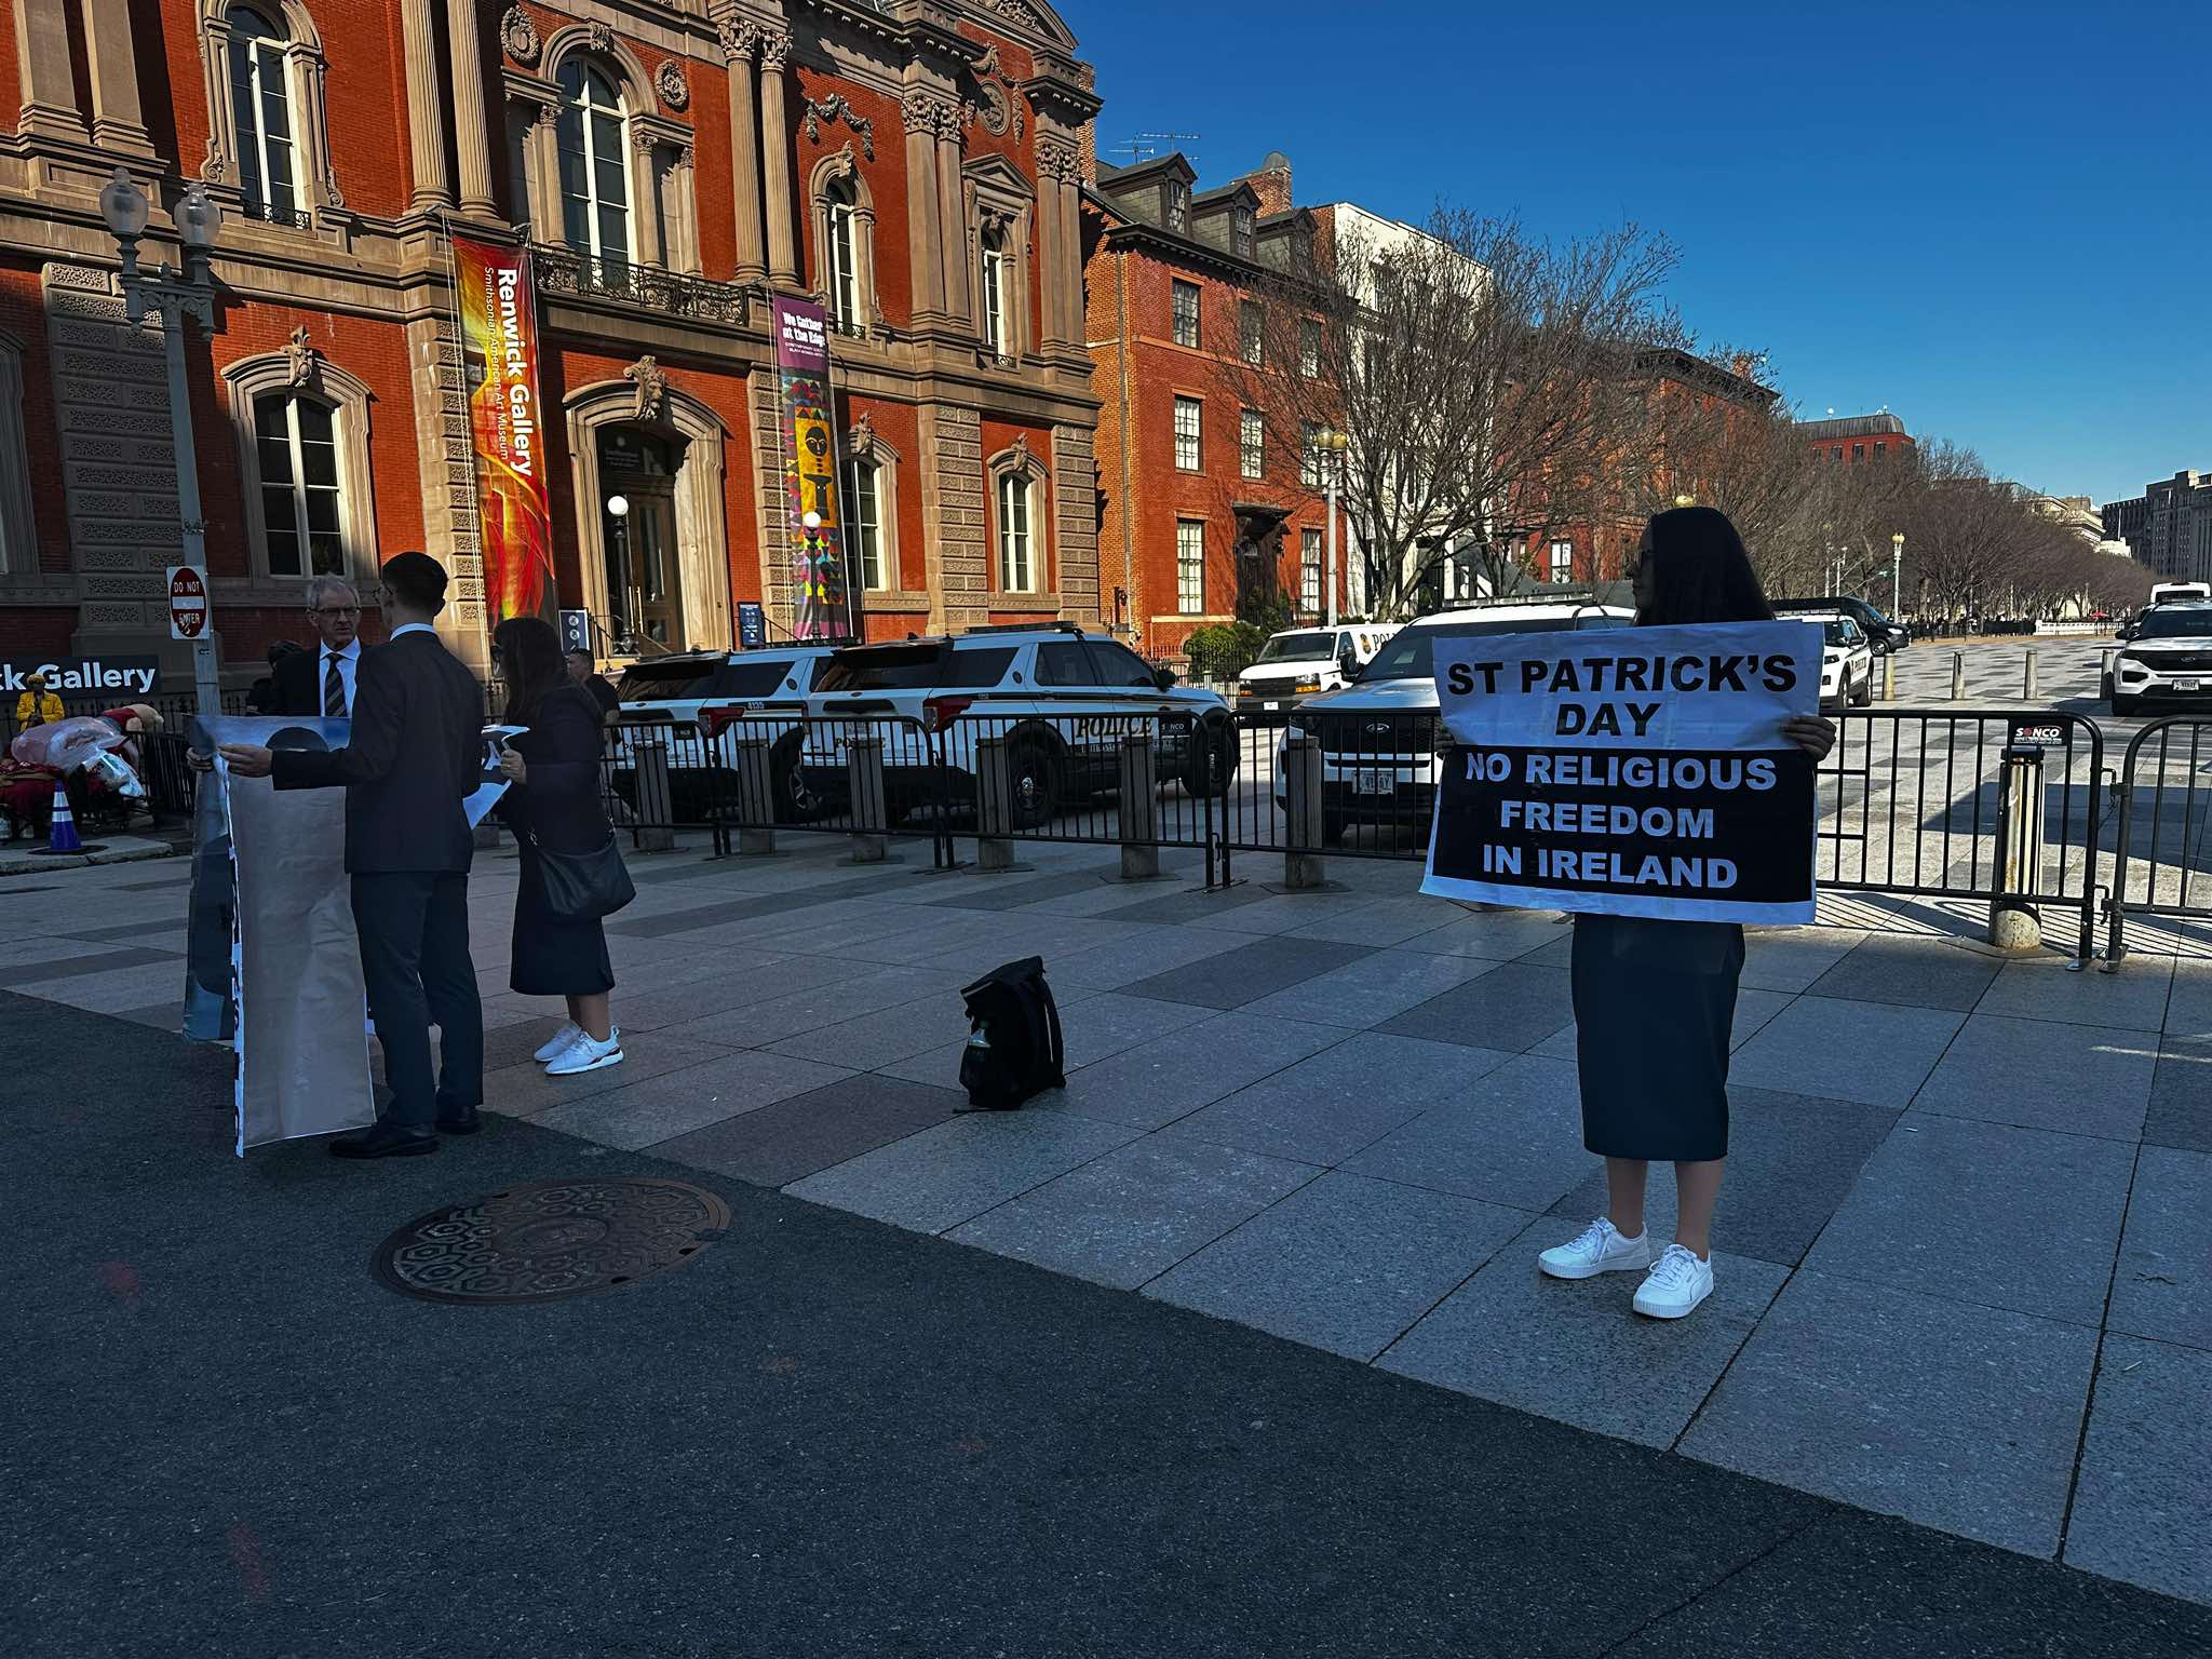
[(542, 617), (502, 622), (491, 635), (491, 661), (507, 681), (507, 723), (529, 728), (509, 739), (500, 757), (500, 772), (511, 781), (500, 818), (522, 847), (507, 982), (518, 995), (568, 1000), (568, 1020), (535, 1055), (546, 1073), (568, 1077), (619, 1066), (622, 1033), (606, 1002), (615, 989), (606, 929), (551, 911), (540, 856), (599, 852), (615, 834), (599, 799), (599, 706), (568, 679), (560, 635)]

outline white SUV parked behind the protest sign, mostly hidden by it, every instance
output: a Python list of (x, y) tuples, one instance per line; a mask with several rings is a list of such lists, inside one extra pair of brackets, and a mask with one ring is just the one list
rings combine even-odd
[[(1343, 841), (1352, 825), (1420, 834), (1427, 841), (1436, 803), (1436, 752), (1444, 745), (1436, 719), (1436, 646), (1506, 633), (1626, 628), (1635, 611), (1588, 599), (1502, 599), (1440, 611), (1400, 628), (1360, 677), (1343, 690), (1307, 697), (1283, 737), (1307, 734), (1321, 745), (1321, 838)], [(1274, 801), (1287, 807), (1283, 750), (1276, 745)]]

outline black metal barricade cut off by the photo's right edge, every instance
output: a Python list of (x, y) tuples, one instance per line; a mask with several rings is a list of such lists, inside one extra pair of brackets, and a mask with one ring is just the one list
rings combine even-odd
[[(2146, 776), (2148, 774), (2148, 776)], [(2212, 717), (2172, 714), (2128, 741), (2119, 765), (2106, 958), (2128, 956), (2130, 916), (2205, 916), (2212, 905)]]

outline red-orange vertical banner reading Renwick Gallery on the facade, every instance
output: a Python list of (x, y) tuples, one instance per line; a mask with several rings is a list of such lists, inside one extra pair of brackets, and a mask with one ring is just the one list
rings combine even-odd
[(487, 622), (553, 615), (551, 438), (538, 403), (529, 252), (453, 237), (453, 305), (476, 447)]

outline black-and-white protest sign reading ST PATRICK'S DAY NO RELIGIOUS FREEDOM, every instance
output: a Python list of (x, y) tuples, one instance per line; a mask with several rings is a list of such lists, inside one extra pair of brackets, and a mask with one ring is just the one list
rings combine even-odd
[(1697, 922), (1814, 918), (1820, 626), (1745, 622), (1438, 641), (1422, 891)]

